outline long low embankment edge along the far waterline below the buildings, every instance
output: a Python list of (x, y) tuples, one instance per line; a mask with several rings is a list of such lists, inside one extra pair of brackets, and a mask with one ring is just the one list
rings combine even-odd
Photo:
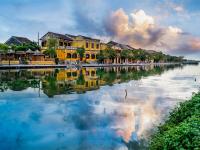
[(82, 65), (0, 65), (0, 69), (29, 69), (29, 68), (70, 68), (70, 67), (121, 67), (148, 65), (177, 65), (182, 63), (133, 63), (133, 64), (82, 64)]

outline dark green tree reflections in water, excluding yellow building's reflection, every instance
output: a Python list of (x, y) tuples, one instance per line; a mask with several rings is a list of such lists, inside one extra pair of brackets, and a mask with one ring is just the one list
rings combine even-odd
[[(128, 82), (130, 80), (140, 80), (143, 77), (152, 75), (160, 75), (164, 71), (174, 69), (177, 66), (156, 66), (156, 67), (126, 67), (126, 68), (101, 68), (96, 70), (98, 76), (96, 83), (100, 85), (113, 85), (115, 83)], [(41, 70), (40, 70), (41, 71)], [(79, 76), (76, 82), (59, 81), (57, 80), (58, 69), (48, 74), (45, 71), (4, 71), (0, 72), (0, 91), (4, 92), (7, 89), (13, 91), (25, 90), (29, 87), (40, 88), (40, 82), (42, 81), (42, 90), (49, 96), (53, 97), (59, 94), (70, 94), (73, 91), (77, 93), (83, 93), (88, 90), (95, 90), (94, 86), (88, 86), (88, 82), (92, 79), (87, 78), (85, 80), (85, 74), (80, 70)], [(94, 79), (93, 79), (94, 80)], [(91, 82), (93, 83), (93, 81)], [(86, 86), (87, 85), (87, 86)], [(80, 88), (82, 90), (80, 91)]]

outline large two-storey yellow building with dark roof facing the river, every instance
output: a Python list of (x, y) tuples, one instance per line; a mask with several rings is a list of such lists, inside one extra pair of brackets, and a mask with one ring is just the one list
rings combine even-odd
[(82, 61), (87, 63), (94, 63), (97, 61), (97, 54), (101, 49), (99, 39), (93, 39), (82, 35), (74, 36), (48, 32), (41, 38), (43, 51), (47, 49), (48, 39), (51, 38), (58, 40), (56, 54), (60, 61), (65, 63), (78, 62), (80, 58), (77, 54), (77, 48), (85, 49), (85, 56)]

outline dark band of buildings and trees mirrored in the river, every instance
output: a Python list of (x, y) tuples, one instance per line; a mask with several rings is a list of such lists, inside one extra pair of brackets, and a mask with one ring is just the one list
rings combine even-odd
[(81, 94), (105, 85), (112, 86), (159, 75), (175, 67), (177, 66), (6, 70), (0, 71), (0, 91), (37, 88), (48, 97), (74, 92)]

